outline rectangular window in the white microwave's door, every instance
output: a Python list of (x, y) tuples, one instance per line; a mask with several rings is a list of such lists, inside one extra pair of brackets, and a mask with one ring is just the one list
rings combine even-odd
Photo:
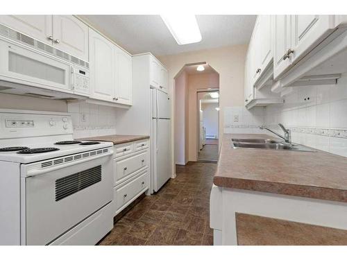
[(33, 78), (65, 85), (64, 69), (34, 60), (18, 53), (8, 53), (8, 70)]

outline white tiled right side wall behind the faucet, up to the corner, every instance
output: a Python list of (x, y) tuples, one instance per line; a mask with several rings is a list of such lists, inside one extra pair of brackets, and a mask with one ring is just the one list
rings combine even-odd
[(347, 157), (347, 74), (337, 85), (294, 88), (285, 104), (266, 107), (264, 123), (283, 123), (294, 142)]

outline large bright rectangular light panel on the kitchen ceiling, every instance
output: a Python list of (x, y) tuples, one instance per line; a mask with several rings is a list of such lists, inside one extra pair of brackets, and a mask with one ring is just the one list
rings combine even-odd
[(160, 15), (179, 45), (201, 41), (195, 15)]

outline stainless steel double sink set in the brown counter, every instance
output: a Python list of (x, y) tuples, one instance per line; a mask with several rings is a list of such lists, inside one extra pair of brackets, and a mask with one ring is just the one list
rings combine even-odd
[(257, 148), (257, 149), (269, 149), (269, 150), (294, 150), (301, 152), (314, 152), (306, 146), (300, 144), (288, 144), (282, 141), (276, 141), (273, 139), (239, 139), (233, 138), (232, 144), (234, 148)]

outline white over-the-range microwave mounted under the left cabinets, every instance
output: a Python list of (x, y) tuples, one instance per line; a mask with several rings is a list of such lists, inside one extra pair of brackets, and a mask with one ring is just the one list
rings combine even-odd
[(33, 46), (23, 42), (22, 37), (12, 40), (0, 35), (0, 93), (46, 98), (89, 96), (90, 72), (87, 62), (76, 64), (80, 61), (76, 58), (77, 62), (71, 62), (67, 58), (74, 57), (67, 53), (51, 46), (48, 49), (48, 45), (30, 39), (24, 40)]

